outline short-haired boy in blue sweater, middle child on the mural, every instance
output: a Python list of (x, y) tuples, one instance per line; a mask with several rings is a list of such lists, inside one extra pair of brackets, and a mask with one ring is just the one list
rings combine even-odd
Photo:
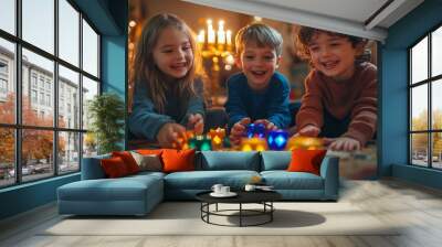
[(235, 37), (235, 63), (242, 69), (228, 79), (230, 140), (239, 144), (249, 124), (264, 124), (267, 130), (291, 122), (290, 86), (276, 68), (282, 53), (281, 34), (261, 23), (242, 28)]

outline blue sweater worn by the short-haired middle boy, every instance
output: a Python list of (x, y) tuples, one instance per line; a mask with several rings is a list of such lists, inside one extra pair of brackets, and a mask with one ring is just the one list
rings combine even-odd
[(225, 110), (229, 115), (229, 129), (245, 117), (252, 121), (267, 119), (280, 129), (291, 124), (290, 86), (281, 73), (273, 74), (269, 87), (263, 92), (253, 90), (243, 73), (234, 74), (228, 79), (228, 93)]

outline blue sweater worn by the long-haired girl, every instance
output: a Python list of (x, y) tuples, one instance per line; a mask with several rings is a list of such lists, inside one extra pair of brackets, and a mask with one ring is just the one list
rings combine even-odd
[(178, 122), (186, 127), (190, 114), (204, 116), (202, 82), (196, 80), (194, 87), (197, 96), (190, 97), (187, 104), (172, 90), (167, 92), (165, 114), (159, 114), (148, 97), (147, 84), (136, 83), (131, 114), (128, 119), (130, 132), (137, 138), (156, 141), (157, 133), (165, 124)]

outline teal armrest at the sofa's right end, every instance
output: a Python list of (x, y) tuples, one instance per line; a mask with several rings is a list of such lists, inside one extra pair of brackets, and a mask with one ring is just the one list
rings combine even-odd
[(337, 200), (339, 194), (339, 158), (327, 155), (320, 164), (320, 176), (324, 179), (324, 197)]

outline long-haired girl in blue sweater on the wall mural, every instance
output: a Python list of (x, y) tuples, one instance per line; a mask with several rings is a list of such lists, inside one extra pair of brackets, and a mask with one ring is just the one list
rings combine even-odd
[(202, 133), (204, 107), (196, 42), (173, 14), (144, 26), (134, 62), (134, 103), (129, 129), (160, 147), (177, 148), (186, 129)]

